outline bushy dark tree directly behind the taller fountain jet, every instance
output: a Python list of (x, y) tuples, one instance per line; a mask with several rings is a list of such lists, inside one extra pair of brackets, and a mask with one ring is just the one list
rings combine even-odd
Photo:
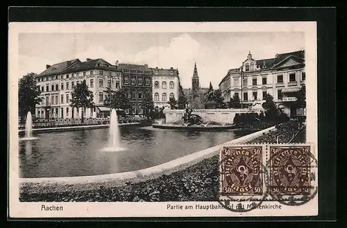
[(117, 91), (112, 91), (110, 88), (108, 88), (106, 90), (106, 94), (108, 94), (108, 96), (103, 102), (105, 107), (118, 110), (124, 110), (130, 107), (129, 99), (123, 90), (119, 89)]

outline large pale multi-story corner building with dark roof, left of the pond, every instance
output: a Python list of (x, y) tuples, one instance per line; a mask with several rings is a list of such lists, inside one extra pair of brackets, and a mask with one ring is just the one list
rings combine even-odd
[(107, 117), (110, 109), (104, 107), (103, 100), (107, 87), (121, 88), (121, 69), (117, 62), (112, 65), (102, 59), (87, 59), (85, 62), (71, 60), (47, 65), (46, 70), (37, 75), (42, 102), (36, 105), (36, 116), (44, 119), (81, 118), (82, 110), (70, 106), (71, 91), (86, 80), (94, 94), (94, 109), (84, 112), (86, 118)]

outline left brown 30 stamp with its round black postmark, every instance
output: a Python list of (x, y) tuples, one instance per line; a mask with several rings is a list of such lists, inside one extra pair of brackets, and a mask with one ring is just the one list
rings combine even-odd
[(219, 156), (217, 202), (232, 212), (252, 211), (267, 198), (264, 179), (265, 144), (235, 144), (222, 148)]

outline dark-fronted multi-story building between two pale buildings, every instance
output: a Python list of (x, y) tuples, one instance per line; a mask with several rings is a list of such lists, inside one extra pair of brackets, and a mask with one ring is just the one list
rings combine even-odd
[(128, 96), (130, 109), (126, 114), (144, 114), (141, 103), (144, 97), (152, 96), (152, 73), (147, 64), (119, 64), (122, 71), (121, 87)]

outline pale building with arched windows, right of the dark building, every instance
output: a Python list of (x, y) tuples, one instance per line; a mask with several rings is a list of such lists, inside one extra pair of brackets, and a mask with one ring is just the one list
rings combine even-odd
[(180, 89), (180, 78), (178, 69), (171, 67), (170, 69), (153, 69), (153, 101), (156, 109), (161, 107), (169, 107), (169, 98), (178, 100)]

